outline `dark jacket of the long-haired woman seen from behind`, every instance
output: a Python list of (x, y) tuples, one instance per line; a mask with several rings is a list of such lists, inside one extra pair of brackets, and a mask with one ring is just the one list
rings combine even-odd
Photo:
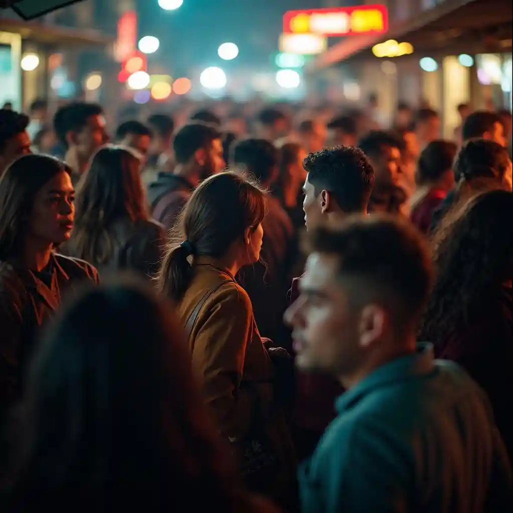
[[(136, 221), (121, 219), (109, 229), (113, 248), (107, 262), (91, 261), (101, 273), (120, 270), (133, 270), (144, 275), (154, 276), (159, 270), (166, 244), (164, 226), (153, 220)], [(73, 238), (62, 251), (70, 257), (80, 257)]]

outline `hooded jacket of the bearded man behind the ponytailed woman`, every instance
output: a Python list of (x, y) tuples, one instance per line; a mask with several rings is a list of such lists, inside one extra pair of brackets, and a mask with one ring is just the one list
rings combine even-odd
[(147, 190), (153, 219), (162, 223), (167, 230), (171, 229), (193, 190), (193, 185), (184, 177), (159, 173)]

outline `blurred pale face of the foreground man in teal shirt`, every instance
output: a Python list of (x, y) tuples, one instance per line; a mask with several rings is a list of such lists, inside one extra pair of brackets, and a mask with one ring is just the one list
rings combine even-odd
[(359, 316), (349, 308), (339, 265), (337, 257), (312, 253), (301, 278), (301, 295), (285, 312), (296, 365), (336, 377), (351, 372), (361, 359)]

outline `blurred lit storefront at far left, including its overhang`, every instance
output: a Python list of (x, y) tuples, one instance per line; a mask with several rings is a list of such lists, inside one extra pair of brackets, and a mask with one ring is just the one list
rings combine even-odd
[[(72, 84), (77, 50), (94, 46), (105, 49), (112, 44), (112, 38), (95, 30), (23, 22), (0, 15), (0, 105), (11, 102), (14, 109), (26, 110), (35, 97), (51, 98), (57, 69), (67, 77), (64, 84)], [(68, 90), (73, 92), (71, 85)]]

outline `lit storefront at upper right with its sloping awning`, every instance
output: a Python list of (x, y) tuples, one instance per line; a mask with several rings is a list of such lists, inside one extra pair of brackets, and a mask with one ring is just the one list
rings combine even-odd
[[(346, 37), (308, 71), (322, 75), (334, 68), (357, 76), (361, 97), (378, 93), (388, 120), (397, 101), (428, 103), (441, 112), (446, 136), (459, 124), (459, 103), (510, 108), (510, 0), (396, 0), (388, 6), (386, 35)], [(390, 42), (408, 51), (377, 51)]]

